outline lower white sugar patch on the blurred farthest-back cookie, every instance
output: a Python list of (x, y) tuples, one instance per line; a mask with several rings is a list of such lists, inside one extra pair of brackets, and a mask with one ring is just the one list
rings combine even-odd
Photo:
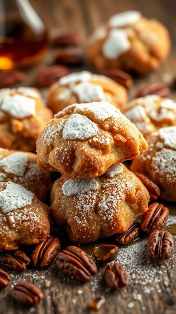
[(111, 30), (103, 43), (102, 51), (107, 59), (115, 59), (126, 52), (130, 46), (125, 30)]

